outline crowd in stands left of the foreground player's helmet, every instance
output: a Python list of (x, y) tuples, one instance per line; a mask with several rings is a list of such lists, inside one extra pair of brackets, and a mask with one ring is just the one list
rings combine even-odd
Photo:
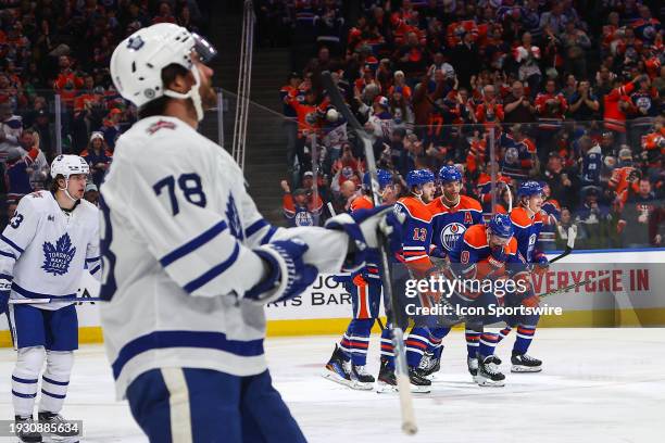
[(154, 23), (199, 31), (201, 17), (196, 0), (0, 1), (0, 194), (10, 199), (8, 211), (48, 186), (58, 138), (62, 153), (90, 164), (86, 194), (95, 201), (117, 137), (136, 121), (109, 75), (113, 49)]

